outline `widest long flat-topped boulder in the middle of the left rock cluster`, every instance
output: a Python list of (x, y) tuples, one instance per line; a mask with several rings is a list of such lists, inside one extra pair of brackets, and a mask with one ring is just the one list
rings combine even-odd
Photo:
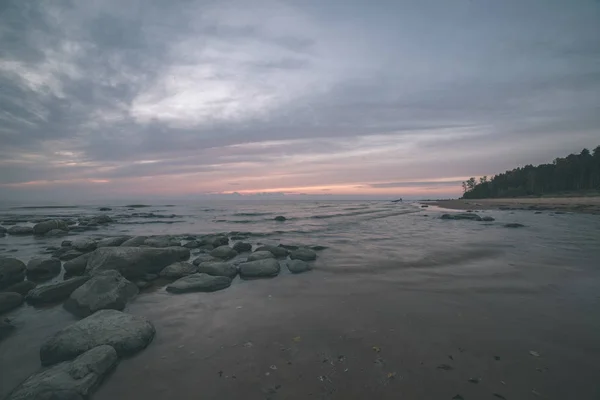
[(166, 266), (189, 257), (189, 249), (183, 247), (103, 247), (92, 253), (86, 272), (91, 275), (97, 271), (114, 269), (125, 278), (132, 279), (147, 273), (158, 273)]

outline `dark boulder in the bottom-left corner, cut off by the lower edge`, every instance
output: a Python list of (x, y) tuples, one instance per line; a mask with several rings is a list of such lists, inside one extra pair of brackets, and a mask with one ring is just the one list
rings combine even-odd
[(118, 360), (113, 347), (94, 347), (73, 361), (62, 362), (31, 375), (11, 392), (7, 400), (87, 399)]

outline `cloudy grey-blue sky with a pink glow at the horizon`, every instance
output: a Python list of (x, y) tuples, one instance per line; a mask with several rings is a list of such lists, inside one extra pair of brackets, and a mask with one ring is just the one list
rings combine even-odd
[(457, 197), (599, 128), (597, 0), (0, 4), (0, 200)]

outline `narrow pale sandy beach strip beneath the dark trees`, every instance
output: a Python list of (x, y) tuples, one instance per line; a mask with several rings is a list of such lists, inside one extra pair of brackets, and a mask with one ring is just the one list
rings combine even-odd
[(540, 197), (509, 199), (453, 199), (423, 201), (422, 204), (450, 210), (532, 210), (600, 215), (600, 196)]

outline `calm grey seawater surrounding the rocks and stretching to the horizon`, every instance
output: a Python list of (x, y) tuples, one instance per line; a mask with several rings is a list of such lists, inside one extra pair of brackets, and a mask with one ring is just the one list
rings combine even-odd
[[(327, 249), (302, 275), (142, 293), (126, 311), (150, 318), (157, 337), (95, 399), (600, 398), (598, 216), (486, 211), (495, 222), (454, 221), (389, 202), (111, 207), (116, 223), (76, 237), (242, 231), (254, 244)], [(98, 213), (4, 208), (0, 221)], [(64, 239), (7, 236), (0, 254), (27, 261)], [(0, 397), (39, 367), (44, 338), (74, 321), (60, 306), (6, 316), (17, 331), (0, 343)]]

